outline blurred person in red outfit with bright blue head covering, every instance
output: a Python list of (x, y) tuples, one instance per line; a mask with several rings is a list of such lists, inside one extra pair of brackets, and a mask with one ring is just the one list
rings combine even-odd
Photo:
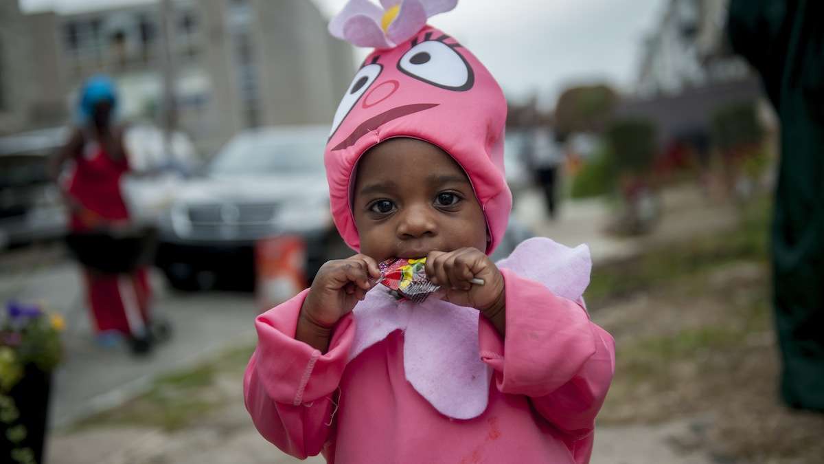
[[(96, 76), (82, 86), (79, 125), (51, 165), (57, 181), (67, 162), (68, 178), (58, 181), (70, 213), (69, 244), (83, 263), (88, 303), (101, 342), (112, 336), (129, 340), (133, 353), (151, 348), (147, 322), (151, 296), (145, 268), (129, 269), (115, 249), (129, 234), (129, 211), (120, 180), (129, 171), (124, 125), (115, 121), (118, 97), (110, 78)], [(64, 181), (64, 182), (63, 182)], [(110, 246), (111, 245), (111, 246)], [(90, 265), (93, 260), (100, 262)], [(119, 269), (126, 266), (126, 269)], [(123, 272), (121, 272), (123, 271)]]

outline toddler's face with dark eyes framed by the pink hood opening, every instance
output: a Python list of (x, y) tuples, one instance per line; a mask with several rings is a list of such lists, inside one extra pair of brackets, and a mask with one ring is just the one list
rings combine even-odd
[(361, 253), (378, 262), (486, 249), (486, 220), (469, 178), (433, 144), (377, 144), (358, 163), (353, 194)]

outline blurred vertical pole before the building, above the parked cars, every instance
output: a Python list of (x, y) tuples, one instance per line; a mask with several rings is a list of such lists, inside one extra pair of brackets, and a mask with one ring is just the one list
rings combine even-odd
[(166, 161), (172, 161), (171, 135), (177, 123), (177, 104), (175, 101), (175, 12), (172, 0), (160, 0), (160, 36), (161, 36), (161, 73), (162, 102), (158, 105), (163, 130), (163, 154)]

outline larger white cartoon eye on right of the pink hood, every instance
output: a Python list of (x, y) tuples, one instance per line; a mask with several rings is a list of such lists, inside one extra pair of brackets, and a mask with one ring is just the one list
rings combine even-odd
[(412, 48), (400, 57), (398, 69), (439, 88), (469, 90), (475, 83), (475, 73), (463, 55), (454, 50), (458, 46), (440, 39), (424, 40), (419, 44), (413, 42)]

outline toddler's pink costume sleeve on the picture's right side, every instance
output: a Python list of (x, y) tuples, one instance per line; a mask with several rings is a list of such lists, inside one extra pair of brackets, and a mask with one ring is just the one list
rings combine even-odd
[(532, 405), (574, 441), (587, 437), (615, 372), (615, 341), (582, 305), (538, 282), (501, 269), (506, 336), (480, 318), (480, 356), (499, 391), (531, 397)]

